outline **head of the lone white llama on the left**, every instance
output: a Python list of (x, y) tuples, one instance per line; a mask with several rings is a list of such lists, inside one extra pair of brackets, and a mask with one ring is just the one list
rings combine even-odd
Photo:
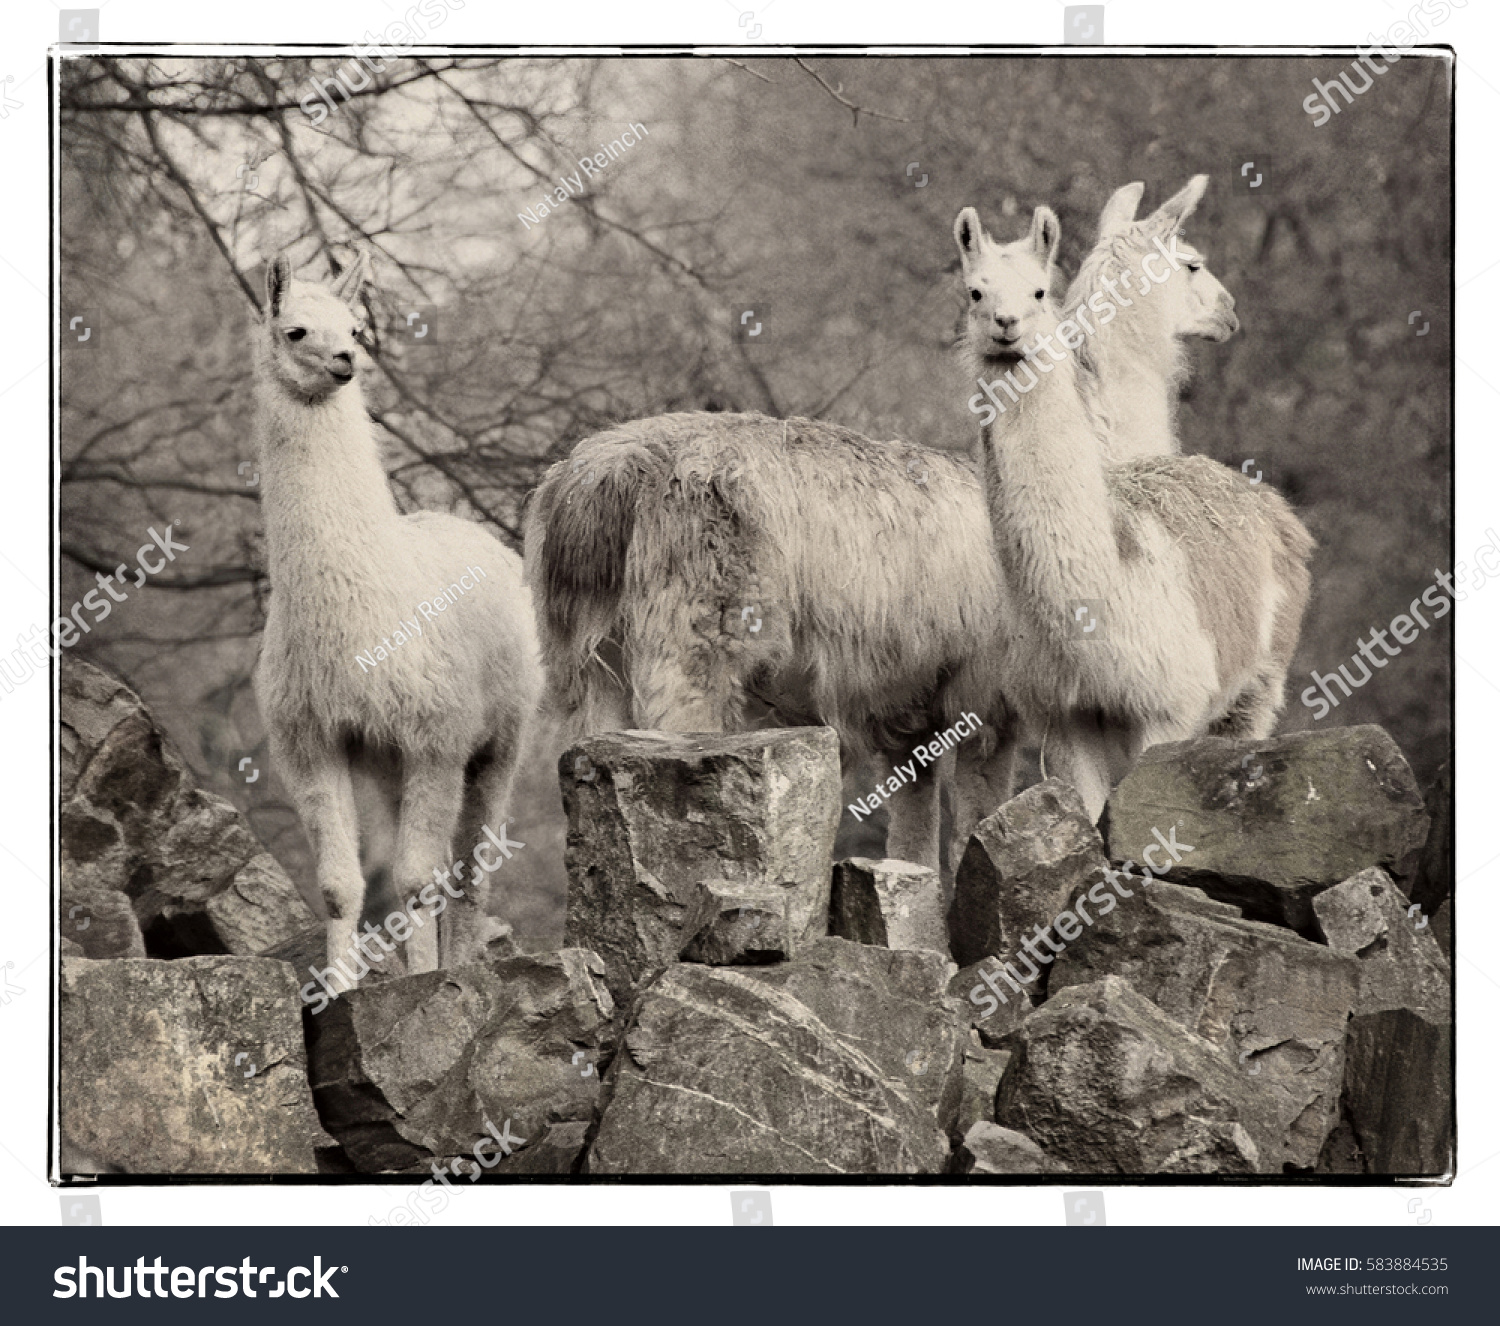
[(266, 270), (262, 368), (288, 394), (324, 400), (354, 381), (364, 272), (363, 254), (332, 286), (292, 279), (285, 254)]

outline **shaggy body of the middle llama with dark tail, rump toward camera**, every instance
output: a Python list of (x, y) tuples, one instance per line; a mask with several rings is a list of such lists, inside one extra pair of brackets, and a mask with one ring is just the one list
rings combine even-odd
[[(980, 483), (948, 454), (806, 418), (640, 420), (548, 472), (526, 567), (573, 730), (720, 732), (770, 710), (890, 764), (972, 710), (963, 766), (1008, 790), (1004, 586)], [(933, 867), (936, 768), (892, 801), (886, 848)], [(974, 795), (966, 816), (998, 804)]]

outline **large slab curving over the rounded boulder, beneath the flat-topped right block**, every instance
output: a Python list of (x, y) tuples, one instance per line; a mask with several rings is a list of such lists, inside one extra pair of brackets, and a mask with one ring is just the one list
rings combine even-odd
[(1263, 1172), (1311, 1170), (1338, 1122), (1358, 964), (1191, 888), (1136, 892), (1056, 960), (1053, 996), (1102, 976), (1128, 981), (1242, 1076), (1239, 1120)]

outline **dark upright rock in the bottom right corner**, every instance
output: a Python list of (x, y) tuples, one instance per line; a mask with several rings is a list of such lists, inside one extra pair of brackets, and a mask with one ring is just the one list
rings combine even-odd
[(1344, 1083), (1365, 1173), (1454, 1173), (1454, 1034), (1406, 1008), (1348, 1026)]

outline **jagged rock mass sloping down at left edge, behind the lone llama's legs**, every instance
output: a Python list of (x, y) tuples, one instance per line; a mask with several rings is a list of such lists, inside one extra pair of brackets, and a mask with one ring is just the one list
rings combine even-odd
[[(134, 692), (64, 654), (60, 693), (58, 922), (90, 957), (261, 954), (315, 924), (240, 813), (194, 786)], [(76, 930), (82, 916), (93, 921)]]

